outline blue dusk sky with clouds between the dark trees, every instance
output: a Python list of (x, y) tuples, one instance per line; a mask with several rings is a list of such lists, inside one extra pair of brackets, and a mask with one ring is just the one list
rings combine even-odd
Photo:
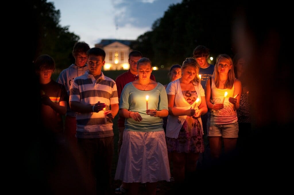
[(171, 4), (182, 0), (47, 0), (61, 12), (60, 25), (94, 47), (101, 39), (136, 40)]

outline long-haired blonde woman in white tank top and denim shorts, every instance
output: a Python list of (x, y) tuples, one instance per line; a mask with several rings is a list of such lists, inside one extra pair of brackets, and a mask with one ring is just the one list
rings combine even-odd
[[(235, 149), (238, 138), (238, 118), (241, 82), (235, 78), (233, 62), (229, 55), (220, 54), (211, 79), (207, 79), (205, 98), (211, 109), (207, 121), (207, 137), (211, 148), (211, 157), (217, 159), (222, 152)], [(227, 96), (225, 96), (227, 92)]]

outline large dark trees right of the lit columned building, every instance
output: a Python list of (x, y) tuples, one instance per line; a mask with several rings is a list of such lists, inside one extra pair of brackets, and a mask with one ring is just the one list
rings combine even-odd
[(210, 48), (211, 55), (233, 55), (231, 25), (235, 5), (223, 1), (183, 0), (169, 6), (152, 31), (140, 35), (134, 49), (153, 64), (171, 66), (192, 57), (197, 45)]

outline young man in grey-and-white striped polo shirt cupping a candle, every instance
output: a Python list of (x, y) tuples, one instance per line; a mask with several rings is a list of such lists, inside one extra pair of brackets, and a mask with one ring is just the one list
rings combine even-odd
[[(87, 52), (88, 70), (71, 84), (69, 105), (77, 112), (77, 143), (96, 180), (96, 193), (108, 194), (113, 157), (113, 123), (118, 113), (116, 83), (101, 72), (105, 51), (91, 48)], [(104, 109), (105, 108), (105, 109)]]

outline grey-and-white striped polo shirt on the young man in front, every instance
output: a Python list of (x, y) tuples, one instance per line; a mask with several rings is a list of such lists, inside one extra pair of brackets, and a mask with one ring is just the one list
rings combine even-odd
[[(69, 102), (78, 101), (85, 105), (93, 106), (98, 101), (106, 104), (106, 111), (111, 104), (118, 104), (116, 83), (113, 79), (101, 76), (97, 79), (89, 70), (85, 74), (76, 77), (71, 84)], [(108, 120), (105, 123), (104, 111), (98, 113), (77, 113), (76, 115), (77, 138), (104, 138), (113, 136), (113, 123)]]

